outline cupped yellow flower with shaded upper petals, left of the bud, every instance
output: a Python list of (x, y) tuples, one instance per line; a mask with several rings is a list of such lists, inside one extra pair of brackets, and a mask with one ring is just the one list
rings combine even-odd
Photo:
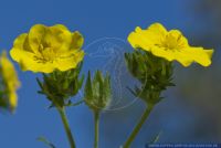
[(67, 71), (83, 60), (82, 34), (70, 32), (64, 25), (35, 24), (29, 33), (19, 35), (10, 54), (23, 71), (51, 73)]

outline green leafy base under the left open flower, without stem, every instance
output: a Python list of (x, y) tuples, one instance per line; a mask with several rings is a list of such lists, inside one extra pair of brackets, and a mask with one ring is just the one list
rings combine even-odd
[(82, 87), (84, 75), (80, 77), (82, 64), (76, 68), (65, 72), (54, 71), (51, 74), (43, 74), (43, 82), (36, 78), (43, 94), (52, 102), (51, 107), (72, 106), (70, 97), (75, 96)]

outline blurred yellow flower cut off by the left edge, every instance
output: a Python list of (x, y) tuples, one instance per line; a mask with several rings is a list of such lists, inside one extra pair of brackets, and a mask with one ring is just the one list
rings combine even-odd
[(14, 66), (7, 57), (6, 52), (3, 52), (0, 56), (0, 75), (2, 76), (3, 84), (6, 85), (4, 89), (9, 98), (9, 105), (12, 109), (14, 109), (18, 104), (17, 89), (20, 86), (20, 82)]

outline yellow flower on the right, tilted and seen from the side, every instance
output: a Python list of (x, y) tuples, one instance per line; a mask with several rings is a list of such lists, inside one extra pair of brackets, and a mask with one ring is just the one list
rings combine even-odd
[(176, 60), (183, 66), (189, 66), (192, 62), (209, 66), (213, 54), (213, 50), (190, 46), (180, 31), (167, 31), (160, 23), (154, 23), (146, 30), (137, 27), (129, 34), (128, 41), (135, 49), (143, 49), (168, 61)]

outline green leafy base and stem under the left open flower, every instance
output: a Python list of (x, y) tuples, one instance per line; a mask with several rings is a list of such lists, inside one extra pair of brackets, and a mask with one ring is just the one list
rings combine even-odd
[(62, 119), (70, 148), (75, 148), (74, 137), (72, 135), (65, 108), (70, 106), (76, 106), (82, 103), (73, 103), (72, 97), (77, 94), (82, 87), (84, 76), (80, 76), (82, 64), (76, 68), (69, 70), (66, 72), (54, 71), (51, 74), (43, 74), (43, 82), (36, 78), (41, 89), (40, 94), (46, 96), (51, 102), (50, 108), (55, 107)]

